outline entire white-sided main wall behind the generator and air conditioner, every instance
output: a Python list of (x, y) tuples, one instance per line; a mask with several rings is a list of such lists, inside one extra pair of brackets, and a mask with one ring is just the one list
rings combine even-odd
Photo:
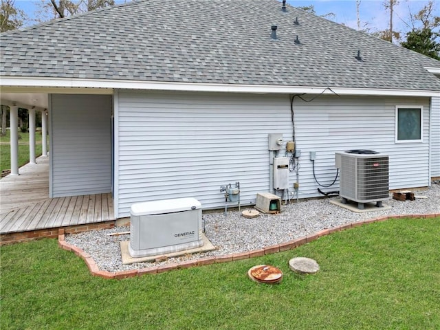
[[(428, 109), (429, 98), (322, 96), (307, 103), (296, 98), (299, 197), (319, 196), (310, 151), (316, 151), (322, 184), (336, 175), (336, 151), (369, 148), (390, 155), (391, 188), (428, 186), (428, 143), (395, 144), (396, 104)], [(223, 208), (220, 186), (236, 181), (241, 203), (254, 203), (256, 192), (270, 186), (268, 134), (292, 140), (287, 95), (119, 91), (117, 107), (119, 217), (128, 216), (133, 203), (179, 197)], [(428, 125), (423, 127), (427, 135)], [(294, 181), (291, 173), (292, 191)], [(338, 190), (338, 181), (322, 190)]]

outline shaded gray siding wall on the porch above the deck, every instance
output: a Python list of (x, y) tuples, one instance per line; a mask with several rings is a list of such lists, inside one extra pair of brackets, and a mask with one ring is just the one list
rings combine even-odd
[(51, 96), (51, 197), (111, 192), (111, 96)]

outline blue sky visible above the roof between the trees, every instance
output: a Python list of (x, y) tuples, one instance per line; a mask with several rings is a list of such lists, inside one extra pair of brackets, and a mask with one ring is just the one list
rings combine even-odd
[[(36, 10), (41, 8), (42, 0), (16, 0), (17, 8), (25, 11), (30, 17), (30, 24), (36, 17)], [(46, 0), (48, 1), (48, 0)], [(123, 3), (126, 0), (115, 0), (116, 3)], [(178, 0), (174, 0), (178, 1)], [(332, 12), (335, 17), (332, 21), (342, 23), (350, 28), (357, 29), (356, 0), (287, 0), (287, 3), (296, 7), (314, 5), (316, 14), (323, 15)], [(370, 28), (371, 32), (386, 30), (389, 21), (389, 12), (384, 10), (384, 0), (361, 0), (360, 2), (360, 21), (362, 28)], [(393, 30), (408, 32), (410, 30), (409, 12), (415, 14), (428, 3), (428, 0), (399, 0), (395, 6), (395, 16), (393, 19)], [(440, 16), (440, 1), (435, 0), (434, 15)], [(368, 25), (365, 25), (368, 23)]]

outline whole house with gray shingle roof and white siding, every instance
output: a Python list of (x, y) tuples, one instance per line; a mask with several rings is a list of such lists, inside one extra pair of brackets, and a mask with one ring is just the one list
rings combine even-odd
[(272, 133), (278, 155), (296, 142), (299, 198), (338, 190), (349, 149), (388, 154), (391, 189), (440, 176), (440, 62), (275, 0), (134, 1), (7, 32), (0, 74), (2, 104), (47, 109), (50, 197), (112, 192), (116, 218), (223, 208), (236, 182), (255, 203)]

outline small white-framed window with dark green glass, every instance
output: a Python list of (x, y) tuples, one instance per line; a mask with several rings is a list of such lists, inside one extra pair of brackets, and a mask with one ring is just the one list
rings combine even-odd
[(396, 107), (396, 142), (421, 142), (423, 107)]

